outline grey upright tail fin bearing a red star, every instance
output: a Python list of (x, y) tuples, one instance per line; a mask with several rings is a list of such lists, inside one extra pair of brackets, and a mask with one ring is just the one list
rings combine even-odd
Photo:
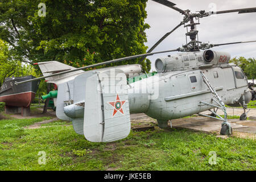
[(88, 77), (85, 87), (84, 135), (91, 142), (112, 142), (130, 133), (126, 75), (120, 69)]

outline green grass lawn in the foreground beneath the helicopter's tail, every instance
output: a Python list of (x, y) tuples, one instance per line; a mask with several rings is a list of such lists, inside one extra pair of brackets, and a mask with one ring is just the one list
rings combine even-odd
[[(253, 139), (188, 130), (159, 129), (134, 132), (112, 143), (88, 142), (72, 126), (23, 129), (49, 118), (0, 120), (0, 170), (255, 170)], [(66, 125), (67, 122), (62, 122)], [(50, 125), (50, 124), (49, 124)], [(45, 126), (49, 126), (45, 125)], [(38, 164), (39, 151), (46, 164)], [(217, 154), (210, 165), (209, 152)]]

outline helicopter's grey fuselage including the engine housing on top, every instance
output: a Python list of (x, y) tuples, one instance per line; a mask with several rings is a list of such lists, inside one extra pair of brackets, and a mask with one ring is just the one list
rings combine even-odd
[[(130, 113), (143, 112), (159, 121), (167, 121), (213, 109), (214, 106), (200, 104), (215, 105), (201, 72), (207, 76), (224, 104), (239, 104), (248, 82), (242, 69), (229, 64), (229, 60), (229, 53), (210, 50), (156, 60), (159, 74), (128, 87)], [(147, 92), (138, 93), (138, 89)], [(245, 102), (249, 101), (250, 98)]]

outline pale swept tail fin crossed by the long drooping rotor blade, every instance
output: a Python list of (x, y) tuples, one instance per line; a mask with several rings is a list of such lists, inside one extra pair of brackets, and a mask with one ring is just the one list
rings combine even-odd
[[(71, 67), (67, 64), (59, 63), (58, 61), (47, 61), (47, 62), (41, 62), (38, 63), (39, 68), (41, 69), (43, 76), (49, 76), (54, 73), (64, 72), (71, 69), (76, 69), (74, 67)], [(63, 82), (67, 82), (69, 80), (72, 80), (77, 75), (83, 73), (84, 71), (74, 71), (71, 73), (64, 73), (63, 75), (58, 76), (52, 76), (48, 77), (47, 80), (49, 83), (54, 83), (56, 85), (59, 85)]]

